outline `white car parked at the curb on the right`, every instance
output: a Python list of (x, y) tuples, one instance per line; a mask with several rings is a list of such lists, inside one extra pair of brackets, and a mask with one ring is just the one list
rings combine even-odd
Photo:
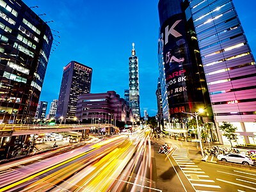
[(253, 165), (252, 159), (248, 156), (244, 156), (242, 154), (227, 154), (227, 155), (218, 155), (217, 159), (219, 161), (224, 161), (224, 162), (231, 162), (231, 163), (241, 163), (246, 166), (248, 165)]

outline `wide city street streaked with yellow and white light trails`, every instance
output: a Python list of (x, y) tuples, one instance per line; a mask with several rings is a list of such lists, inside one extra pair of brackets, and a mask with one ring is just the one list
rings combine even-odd
[[(163, 143), (167, 154), (158, 153)], [(201, 161), (193, 142), (138, 131), (82, 144), (1, 165), (0, 191), (256, 190), (256, 172)]]

